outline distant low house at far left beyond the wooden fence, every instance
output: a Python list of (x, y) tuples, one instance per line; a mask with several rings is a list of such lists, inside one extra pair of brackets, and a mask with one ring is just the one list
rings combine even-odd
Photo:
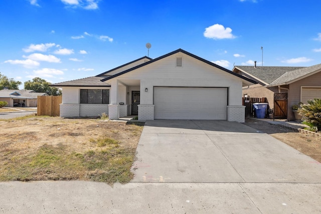
[(0, 90), (0, 101), (7, 101), (6, 107), (37, 107), (38, 96), (48, 96), (48, 94), (36, 93), (34, 90)]

